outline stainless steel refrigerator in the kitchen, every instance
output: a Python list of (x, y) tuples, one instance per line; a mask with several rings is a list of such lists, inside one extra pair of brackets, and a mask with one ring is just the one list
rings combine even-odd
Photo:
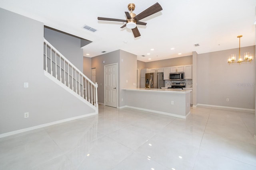
[[(152, 83), (150, 81), (150, 78), (152, 78)], [(145, 81), (145, 87), (149, 88), (161, 88), (164, 87), (164, 73), (163, 72), (151, 72), (146, 73), (146, 81)]]

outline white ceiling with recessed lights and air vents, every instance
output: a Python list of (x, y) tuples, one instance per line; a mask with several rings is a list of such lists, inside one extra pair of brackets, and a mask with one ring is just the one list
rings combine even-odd
[[(144, 18), (134, 38), (124, 23), (98, 21), (97, 17), (126, 20), (128, 4), (135, 14), (158, 2), (163, 10)], [(88, 39), (84, 56), (118, 49), (144, 62), (255, 45), (256, 0), (1, 0), (0, 8), (27, 16), (48, 27)], [(95, 32), (84, 29), (88, 25)], [(200, 46), (195, 47), (195, 44)], [(174, 49), (172, 49), (174, 48)], [(154, 49), (154, 50), (151, 50)], [(148, 53), (150, 53), (148, 55)], [(178, 53), (181, 53), (178, 55)], [(86, 55), (90, 54), (90, 55)], [(145, 57), (142, 57), (145, 55)], [(228, 56), (227, 56), (228, 58)], [(151, 59), (151, 60), (149, 60)]]

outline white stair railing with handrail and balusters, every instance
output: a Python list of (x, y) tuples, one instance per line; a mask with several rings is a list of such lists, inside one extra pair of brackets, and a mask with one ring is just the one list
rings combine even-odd
[(84, 98), (98, 111), (98, 84), (86, 77), (46, 39), (44, 39), (44, 70)]

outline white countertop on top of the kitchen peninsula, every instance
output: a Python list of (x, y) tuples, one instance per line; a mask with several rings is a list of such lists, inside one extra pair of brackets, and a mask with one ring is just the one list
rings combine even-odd
[(179, 89), (159, 89), (159, 88), (151, 88), (150, 90), (145, 88), (123, 88), (122, 90), (140, 91), (140, 92), (181, 93), (181, 94), (186, 94), (191, 92), (191, 90), (189, 89), (179, 90)]

